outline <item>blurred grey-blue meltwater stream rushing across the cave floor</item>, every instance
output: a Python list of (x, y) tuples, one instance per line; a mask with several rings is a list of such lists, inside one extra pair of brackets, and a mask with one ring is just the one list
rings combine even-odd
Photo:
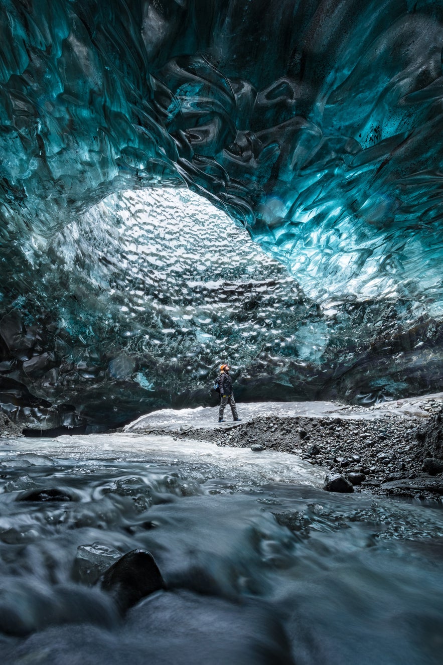
[[(326, 493), (295, 456), (170, 437), (9, 439), (0, 464), (4, 664), (442, 662), (439, 505)], [(166, 591), (122, 618), (79, 581), (94, 543), (147, 549)]]

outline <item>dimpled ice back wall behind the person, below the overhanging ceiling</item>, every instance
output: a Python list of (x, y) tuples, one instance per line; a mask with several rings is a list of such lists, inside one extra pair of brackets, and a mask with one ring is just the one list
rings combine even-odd
[(0, 321), (3, 409), (29, 428), (210, 404), (221, 360), (243, 401), (366, 403), (442, 383), (440, 327), (423, 305), (321, 309), (186, 190), (120, 192), (34, 239), (33, 283), (5, 290)]

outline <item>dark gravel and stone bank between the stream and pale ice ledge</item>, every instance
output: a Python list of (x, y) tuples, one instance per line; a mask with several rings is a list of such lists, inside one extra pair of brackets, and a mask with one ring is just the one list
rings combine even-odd
[(227, 422), (220, 428), (182, 426), (173, 432), (144, 432), (211, 441), (218, 446), (248, 447), (257, 454), (262, 450), (293, 453), (324, 467), (325, 477), (344, 477), (347, 483), (340, 491), (442, 501), (442, 402), (429, 399), (418, 406), (431, 417), (389, 414), (365, 420), (343, 415), (263, 416), (235, 426)]

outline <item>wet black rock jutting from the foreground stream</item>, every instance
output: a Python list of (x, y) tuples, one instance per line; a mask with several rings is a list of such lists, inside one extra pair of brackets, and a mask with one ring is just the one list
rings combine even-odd
[(101, 587), (126, 612), (150, 593), (165, 589), (165, 583), (152, 554), (134, 549), (108, 568), (102, 575)]

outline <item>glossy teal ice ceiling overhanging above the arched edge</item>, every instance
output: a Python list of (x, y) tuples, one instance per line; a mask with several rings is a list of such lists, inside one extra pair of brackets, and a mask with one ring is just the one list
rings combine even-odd
[(186, 182), (317, 297), (434, 300), (442, 19), (432, 0), (5, 1), (5, 236)]

